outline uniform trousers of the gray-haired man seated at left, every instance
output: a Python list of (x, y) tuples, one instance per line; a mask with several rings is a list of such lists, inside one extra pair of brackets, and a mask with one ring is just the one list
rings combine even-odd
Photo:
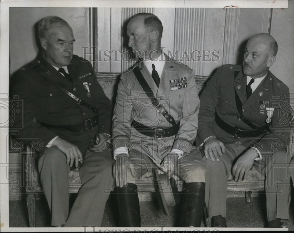
[(44, 150), (39, 158), (39, 173), (52, 226), (100, 227), (113, 188), (112, 164), (110, 151), (86, 152), (79, 169), (82, 186), (69, 213), (70, 167), (66, 164), (66, 156), (55, 146)]

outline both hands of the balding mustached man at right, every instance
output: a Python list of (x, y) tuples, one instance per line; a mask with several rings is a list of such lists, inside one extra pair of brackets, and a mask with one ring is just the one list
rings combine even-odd
[[(205, 158), (211, 158), (211, 161), (219, 161), (219, 158), (222, 158), (223, 153), (225, 153), (225, 145), (215, 139), (209, 138), (204, 144), (204, 154)], [(232, 175), (235, 177), (235, 181), (246, 180), (248, 172), (253, 165), (254, 160), (258, 157), (258, 153), (253, 149), (248, 149), (243, 153), (235, 162), (232, 168)]]

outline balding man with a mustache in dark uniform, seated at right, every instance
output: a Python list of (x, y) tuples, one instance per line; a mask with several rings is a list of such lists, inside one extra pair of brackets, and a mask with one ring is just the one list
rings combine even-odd
[(251, 37), (243, 67), (218, 68), (200, 96), (196, 144), (204, 144), (205, 198), (213, 227), (227, 227), (230, 171), (235, 181), (246, 180), (253, 165), (265, 175), (267, 227), (280, 227), (281, 220), (289, 219), (289, 174), (281, 166), (290, 161), (285, 151), (289, 88), (269, 71), (277, 51), (269, 34)]

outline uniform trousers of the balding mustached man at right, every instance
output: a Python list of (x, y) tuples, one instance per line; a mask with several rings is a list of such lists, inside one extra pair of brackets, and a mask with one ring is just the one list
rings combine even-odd
[[(228, 178), (233, 163), (248, 148), (239, 141), (225, 144), (225, 153), (219, 161), (203, 157), (206, 169), (205, 202), (208, 217), (226, 217)], [(290, 188), (289, 161), (285, 151), (263, 154), (263, 160), (254, 161), (253, 166), (265, 176), (265, 195), (268, 221), (289, 219), (288, 198)]]

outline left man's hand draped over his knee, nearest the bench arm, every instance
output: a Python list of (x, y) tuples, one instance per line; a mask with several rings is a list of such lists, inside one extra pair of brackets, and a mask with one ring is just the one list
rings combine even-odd
[(76, 168), (78, 167), (78, 161), (81, 161), (83, 163), (83, 156), (81, 151), (78, 149), (77, 146), (69, 143), (68, 141), (65, 141), (61, 138), (56, 138), (52, 146), (56, 146), (60, 151), (62, 151), (66, 156), (66, 164), (69, 164), (70, 167), (76, 165)]

